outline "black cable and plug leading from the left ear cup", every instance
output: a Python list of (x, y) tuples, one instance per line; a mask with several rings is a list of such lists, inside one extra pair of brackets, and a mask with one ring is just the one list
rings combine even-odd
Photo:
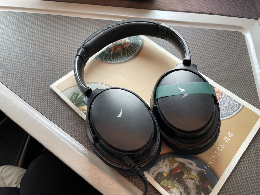
[(141, 179), (141, 181), (144, 183), (144, 190), (142, 195), (146, 195), (147, 188), (148, 188), (148, 182), (147, 178), (145, 177), (144, 172), (141, 170), (141, 168), (134, 162), (134, 160), (130, 157), (122, 157), (123, 161), (126, 163), (126, 165), (131, 168), (131, 170), (138, 175), (138, 177)]

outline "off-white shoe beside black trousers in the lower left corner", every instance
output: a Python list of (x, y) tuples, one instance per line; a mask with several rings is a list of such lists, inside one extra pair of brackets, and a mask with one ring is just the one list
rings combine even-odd
[(26, 169), (13, 166), (0, 166), (0, 187), (20, 187)]

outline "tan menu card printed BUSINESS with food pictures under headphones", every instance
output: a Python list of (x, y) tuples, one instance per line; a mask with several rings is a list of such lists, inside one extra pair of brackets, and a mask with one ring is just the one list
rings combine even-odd
[[(91, 57), (84, 69), (84, 79), (92, 90), (122, 87), (148, 103), (156, 81), (178, 63), (181, 60), (147, 37), (127, 37)], [(214, 86), (219, 101), (218, 139), (209, 150), (194, 156), (174, 153), (162, 142), (158, 161), (145, 172), (161, 194), (217, 194), (260, 127), (260, 110), (204, 77)], [(87, 107), (73, 71), (50, 87), (85, 119)]]

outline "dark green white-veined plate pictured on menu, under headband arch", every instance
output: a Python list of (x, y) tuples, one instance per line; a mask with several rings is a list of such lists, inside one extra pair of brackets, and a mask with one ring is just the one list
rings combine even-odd
[(140, 36), (131, 36), (120, 39), (110, 44), (98, 56), (97, 60), (107, 63), (118, 63), (134, 57), (142, 46), (142, 38)]

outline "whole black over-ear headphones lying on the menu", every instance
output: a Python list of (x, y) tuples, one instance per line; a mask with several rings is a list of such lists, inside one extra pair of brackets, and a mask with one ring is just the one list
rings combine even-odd
[[(150, 100), (151, 109), (140, 96), (127, 89), (111, 87), (92, 91), (84, 82), (84, 66), (89, 57), (112, 42), (135, 35), (168, 41), (183, 60), (157, 81)], [(188, 155), (206, 151), (217, 140), (220, 110), (215, 90), (199, 74), (196, 65), (191, 64), (183, 37), (165, 23), (131, 19), (101, 28), (78, 48), (74, 75), (88, 108), (88, 141), (96, 155), (118, 171), (134, 171), (144, 180), (140, 168), (147, 170), (156, 162), (161, 150), (160, 132), (170, 148)]]

